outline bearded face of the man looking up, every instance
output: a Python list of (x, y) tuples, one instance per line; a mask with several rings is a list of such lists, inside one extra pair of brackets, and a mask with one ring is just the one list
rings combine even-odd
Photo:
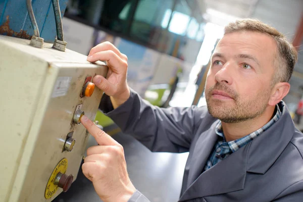
[(226, 34), (211, 59), (206, 82), (210, 114), (226, 123), (260, 116), (268, 106), (276, 43), (258, 32)]

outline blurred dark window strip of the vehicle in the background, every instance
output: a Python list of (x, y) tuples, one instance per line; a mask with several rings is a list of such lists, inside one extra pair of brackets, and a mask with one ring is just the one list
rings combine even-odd
[(70, 0), (66, 16), (77, 16), (83, 24), (86, 21), (114, 36), (187, 60), (185, 46), (199, 45), (204, 38), (197, 10), (188, 0)]

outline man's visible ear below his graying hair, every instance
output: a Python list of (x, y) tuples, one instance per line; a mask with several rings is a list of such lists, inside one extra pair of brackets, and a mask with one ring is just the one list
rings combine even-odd
[(272, 91), (271, 91), (271, 97), (268, 101), (268, 105), (275, 106), (277, 105), (289, 92), (290, 84), (287, 82), (280, 82), (277, 83)]

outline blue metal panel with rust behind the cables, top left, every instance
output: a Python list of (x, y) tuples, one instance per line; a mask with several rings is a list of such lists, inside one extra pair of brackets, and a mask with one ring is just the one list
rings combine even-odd
[[(68, 0), (59, 0), (64, 15)], [(46, 42), (54, 42), (56, 23), (52, 0), (32, 1), (40, 36)], [(29, 39), (33, 34), (25, 0), (0, 0), (0, 34)]]

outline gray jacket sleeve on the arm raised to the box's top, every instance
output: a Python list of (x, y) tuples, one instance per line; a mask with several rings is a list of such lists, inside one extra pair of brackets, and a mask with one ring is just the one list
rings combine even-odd
[(110, 97), (103, 95), (99, 109), (122, 130), (133, 135), (151, 151), (182, 153), (188, 151), (196, 122), (207, 112), (206, 107), (159, 108), (130, 90), (128, 100), (113, 109)]

